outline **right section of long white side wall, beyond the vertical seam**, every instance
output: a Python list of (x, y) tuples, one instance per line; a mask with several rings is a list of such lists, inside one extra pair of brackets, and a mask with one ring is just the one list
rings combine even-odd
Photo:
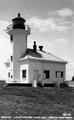
[[(50, 70), (50, 79), (44, 80), (44, 82), (58, 81), (59, 83), (65, 81), (65, 65), (59, 63), (44, 63), (44, 69)], [(63, 71), (64, 78), (56, 78), (56, 71)]]

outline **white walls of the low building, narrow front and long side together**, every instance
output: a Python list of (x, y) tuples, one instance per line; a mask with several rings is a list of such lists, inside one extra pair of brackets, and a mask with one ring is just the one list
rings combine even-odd
[[(33, 83), (35, 76), (34, 72), (38, 72), (38, 80), (42, 81), (43, 83), (53, 83), (58, 81), (59, 83), (65, 81), (65, 74), (66, 74), (66, 68), (65, 64), (60, 64), (60, 63), (52, 63), (52, 62), (37, 62), (37, 61), (32, 61), (32, 60), (23, 60), (23, 61), (18, 61), (19, 62), (19, 76), (20, 80), (15, 80), (19, 83)], [(10, 69), (8, 68), (8, 71)], [(27, 71), (27, 77), (25, 79), (22, 78), (22, 70)], [(44, 70), (49, 70), (50, 71), (50, 79), (45, 79), (44, 78)], [(63, 71), (64, 72), (64, 78), (58, 79), (55, 76), (56, 71)]]

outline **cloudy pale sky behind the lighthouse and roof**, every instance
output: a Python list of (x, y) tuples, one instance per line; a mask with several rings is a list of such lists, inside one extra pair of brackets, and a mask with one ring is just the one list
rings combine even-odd
[(31, 28), (28, 47), (33, 42), (68, 63), (66, 80), (74, 75), (74, 0), (0, 0), (0, 79), (5, 79), (5, 62), (11, 54), (5, 29), (21, 13)]

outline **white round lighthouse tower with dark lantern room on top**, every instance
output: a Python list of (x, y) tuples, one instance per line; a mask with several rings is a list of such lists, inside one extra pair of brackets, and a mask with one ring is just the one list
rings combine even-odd
[(11, 55), (11, 70), (8, 74), (12, 82), (20, 81), (19, 59), (27, 49), (27, 37), (30, 34), (30, 28), (25, 25), (25, 22), (26, 20), (18, 13), (18, 16), (12, 20), (12, 25), (7, 27), (7, 33), (10, 35), (13, 51)]

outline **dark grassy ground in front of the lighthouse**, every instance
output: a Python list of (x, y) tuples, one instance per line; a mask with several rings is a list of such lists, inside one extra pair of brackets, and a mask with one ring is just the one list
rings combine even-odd
[(74, 116), (74, 89), (0, 88), (0, 116), (62, 116), (65, 112)]

